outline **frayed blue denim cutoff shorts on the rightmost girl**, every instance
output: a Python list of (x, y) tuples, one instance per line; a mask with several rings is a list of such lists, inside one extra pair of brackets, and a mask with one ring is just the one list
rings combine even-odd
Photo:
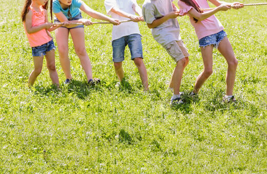
[(215, 33), (206, 37), (199, 39), (199, 47), (206, 47), (209, 45), (214, 45), (215, 48), (218, 48), (218, 45), (222, 39), (227, 36), (226, 33), (222, 30), (219, 33)]

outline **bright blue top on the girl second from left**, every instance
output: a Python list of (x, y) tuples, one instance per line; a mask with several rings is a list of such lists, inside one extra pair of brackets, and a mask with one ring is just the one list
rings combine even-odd
[[(72, 3), (70, 5), (70, 14), (71, 17), (77, 16), (78, 14), (81, 13), (80, 11), (80, 7), (83, 4), (83, 1), (81, 0), (72, 0)], [(59, 13), (59, 12), (63, 12), (63, 14), (67, 17), (70, 18), (70, 16), (68, 16), (68, 11), (69, 9), (63, 9), (60, 5), (59, 0), (53, 0), (53, 13)]]

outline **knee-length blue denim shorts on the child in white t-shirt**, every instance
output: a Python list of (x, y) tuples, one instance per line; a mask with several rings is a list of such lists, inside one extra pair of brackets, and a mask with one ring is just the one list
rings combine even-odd
[(112, 41), (113, 62), (121, 62), (124, 60), (124, 51), (127, 45), (131, 52), (131, 60), (137, 57), (143, 58), (141, 35), (130, 34)]

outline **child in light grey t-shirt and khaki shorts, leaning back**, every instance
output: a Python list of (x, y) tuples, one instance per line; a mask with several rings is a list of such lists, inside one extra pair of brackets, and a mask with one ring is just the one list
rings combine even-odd
[(183, 102), (180, 96), (180, 84), (184, 68), (189, 61), (189, 54), (180, 37), (180, 27), (176, 19), (181, 15), (172, 2), (172, 0), (146, 0), (142, 13), (148, 28), (151, 28), (152, 36), (176, 62), (170, 81), (171, 86), (174, 87), (170, 104), (176, 105)]

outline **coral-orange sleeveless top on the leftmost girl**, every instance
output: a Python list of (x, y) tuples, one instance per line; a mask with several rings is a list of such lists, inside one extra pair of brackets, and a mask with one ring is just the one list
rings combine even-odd
[[(32, 26), (39, 26), (45, 23), (45, 11), (42, 7), (40, 8), (41, 12), (36, 12), (31, 6), (30, 10), (32, 11)], [(41, 46), (52, 40), (52, 38), (49, 37), (46, 33), (45, 29), (42, 29), (35, 33), (28, 33), (26, 30), (25, 22), (23, 23), (23, 26), (31, 47)]]

